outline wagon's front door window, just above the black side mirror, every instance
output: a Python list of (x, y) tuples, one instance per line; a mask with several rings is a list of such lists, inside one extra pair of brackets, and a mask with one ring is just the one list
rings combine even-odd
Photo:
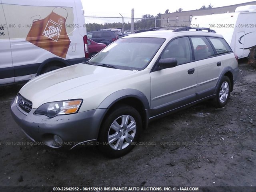
[(161, 59), (175, 58), (178, 65), (192, 61), (192, 50), (188, 37), (182, 37), (172, 40), (165, 48)]

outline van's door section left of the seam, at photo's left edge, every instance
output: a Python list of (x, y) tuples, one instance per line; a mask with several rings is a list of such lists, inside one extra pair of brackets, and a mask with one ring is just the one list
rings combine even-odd
[(7, 23), (0, 0), (0, 84), (14, 82), (14, 68)]

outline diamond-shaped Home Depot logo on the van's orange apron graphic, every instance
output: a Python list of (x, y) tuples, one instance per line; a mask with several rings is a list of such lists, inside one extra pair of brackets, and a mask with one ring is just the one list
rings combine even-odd
[(58, 41), (58, 38), (60, 37), (61, 28), (61, 25), (57, 24), (52, 20), (49, 20), (44, 29), (43, 36), (46, 36), (54, 41)]

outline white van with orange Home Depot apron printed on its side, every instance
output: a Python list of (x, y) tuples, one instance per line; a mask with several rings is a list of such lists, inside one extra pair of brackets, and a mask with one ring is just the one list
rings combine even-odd
[(0, 0), (0, 85), (88, 59), (81, 0)]

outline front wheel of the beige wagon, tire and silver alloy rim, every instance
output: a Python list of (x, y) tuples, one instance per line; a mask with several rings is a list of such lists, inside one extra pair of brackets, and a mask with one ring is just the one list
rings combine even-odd
[(141, 131), (141, 116), (135, 108), (128, 105), (113, 108), (100, 129), (100, 150), (110, 158), (123, 156), (135, 146)]

